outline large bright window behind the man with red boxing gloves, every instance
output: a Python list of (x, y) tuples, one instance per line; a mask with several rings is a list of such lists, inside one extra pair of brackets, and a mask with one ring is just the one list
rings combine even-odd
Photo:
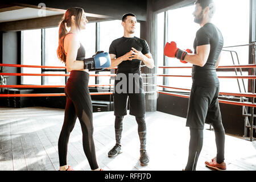
[[(214, 23), (222, 32), (225, 46), (237, 46), (249, 43), (250, 28), (250, 1), (241, 3), (238, 0), (215, 0), (216, 14), (214, 14), (212, 23)], [(192, 15), (195, 6), (181, 7), (179, 9), (168, 10), (158, 14), (158, 65), (163, 65), (163, 48), (166, 42), (175, 41), (180, 49), (192, 49), (196, 31), (199, 30), (199, 24), (193, 21)], [(164, 31), (166, 30), (166, 31)], [(166, 39), (166, 40), (164, 40)], [(236, 51), (240, 64), (249, 64), (249, 47), (224, 48), (229, 51)], [(192, 66), (192, 64), (182, 64), (179, 60), (166, 57), (166, 66)], [(236, 54), (233, 52), (234, 64), (238, 64)], [(220, 65), (233, 65), (230, 52), (222, 51)], [(158, 68), (158, 74), (168, 75), (191, 75), (192, 69), (163, 69)], [(239, 73), (239, 72), (238, 72)], [(218, 76), (235, 76), (234, 71), (217, 71)], [(240, 75), (240, 73), (239, 73)], [(248, 72), (243, 70), (243, 76)], [(239, 80), (241, 82), (241, 79)], [(244, 80), (247, 91), (248, 82)], [(176, 88), (190, 89), (192, 85), (191, 77), (159, 77), (158, 85), (172, 85)], [(221, 92), (240, 92), (236, 79), (220, 78)], [(165, 89), (177, 91), (176, 89)], [(179, 91), (179, 90), (178, 90)], [(245, 92), (245, 90), (242, 90)]]

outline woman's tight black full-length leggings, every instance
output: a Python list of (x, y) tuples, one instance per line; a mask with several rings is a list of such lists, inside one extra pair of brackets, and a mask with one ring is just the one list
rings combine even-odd
[(67, 165), (68, 140), (77, 117), (82, 129), (82, 145), (91, 169), (97, 169), (96, 152), (93, 140), (93, 114), (92, 100), (90, 98), (89, 73), (84, 71), (71, 71), (65, 86), (67, 103), (65, 106), (65, 117), (61, 129), (58, 149), (60, 166)]

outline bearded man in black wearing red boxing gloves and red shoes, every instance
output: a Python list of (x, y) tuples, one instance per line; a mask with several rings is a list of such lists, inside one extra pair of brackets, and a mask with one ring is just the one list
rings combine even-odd
[(189, 155), (185, 170), (196, 170), (197, 160), (203, 147), (204, 123), (213, 125), (216, 136), (217, 156), (205, 165), (217, 170), (226, 169), (224, 162), (225, 130), (222, 126), (218, 93), (220, 83), (216, 68), (220, 63), (223, 38), (220, 30), (210, 20), (215, 11), (212, 0), (195, 2), (195, 22), (201, 28), (196, 32), (194, 54), (188, 54), (176, 47), (175, 42), (167, 43), (164, 54), (193, 64), (192, 88), (189, 97), (186, 126), (190, 130)]

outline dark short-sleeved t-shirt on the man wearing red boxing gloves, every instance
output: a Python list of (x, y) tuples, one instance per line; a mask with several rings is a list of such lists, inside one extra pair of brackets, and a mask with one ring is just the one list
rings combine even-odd
[(210, 44), (210, 53), (204, 67), (193, 65), (192, 80), (197, 86), (219, 86), (220, 82), (216, 74), (216, 63), (220, 56), (224, 41), (220, 30), (214, 24), (207, 23), (196, 32), (194, 49), (197, 46)]

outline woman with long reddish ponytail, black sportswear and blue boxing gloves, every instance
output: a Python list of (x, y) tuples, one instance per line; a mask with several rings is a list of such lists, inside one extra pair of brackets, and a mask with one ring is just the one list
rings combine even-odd
[[(82, 144), (90, 168), (102, 170), (98, 167), (96, 160), (93, 141), (92, 100), (88, 88), (89, 70), (96, 68), (96, 56), (85, 59), (85, 49), (77, 36), (80, 30), (85, 29), (86, 23), (88, 20), (84, 10), (79, 7), (72, 7), (65, 12), (59, 28), (57, 56), (66, 64), (67, 71), (71, 72), (65, 86), (67, 103), (58, 142), (60, 171), (73, 170), (67, 165), (67, 150), (69, 135), (75, 126), (77, 117), (81, 124)], [(66, 26), (70, 27), (69, 32), (67, 32)]]

